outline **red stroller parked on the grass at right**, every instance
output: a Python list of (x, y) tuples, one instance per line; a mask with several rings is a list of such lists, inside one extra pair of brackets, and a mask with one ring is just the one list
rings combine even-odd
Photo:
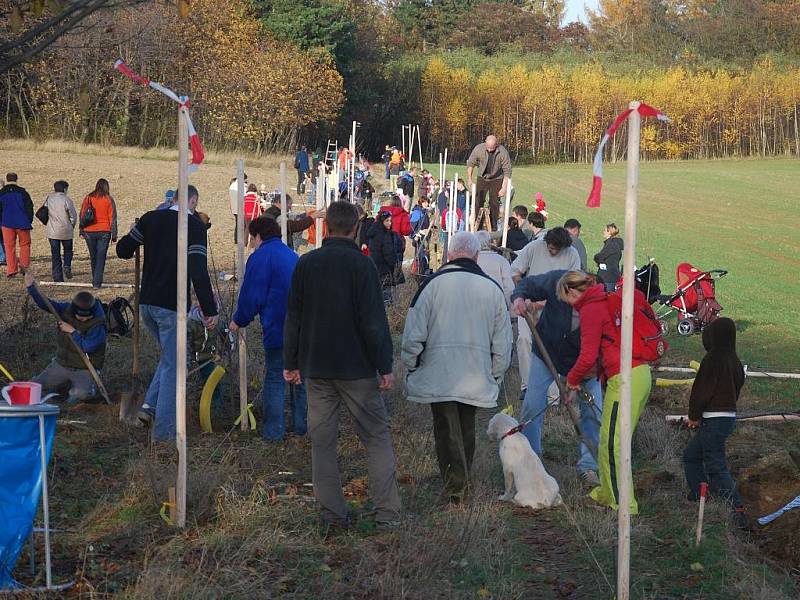
[(714, 287), (717, 279), (727, 275), (727, 271), (713, 269), (701, 271), (690, 263), (681, 263), (675, 273), (678, 289), (672, 296), (660, 296), (658, 301), (663, 309), (658, 312), (664, 333), (668, 326), (664, 319), (673, 311), (678, 314), (678, 333), (692, 335), (719, 316), (722, 306), (717, 302)]

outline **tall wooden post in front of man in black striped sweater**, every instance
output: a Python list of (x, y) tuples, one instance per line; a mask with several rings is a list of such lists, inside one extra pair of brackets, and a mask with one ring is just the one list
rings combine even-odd
[(175, 483), (176, 525), (186, 526), (186, 313), (189, 276), (189, 117), (178, 109), (178, 273), (175, 308), (175, 444), (178, 476)]

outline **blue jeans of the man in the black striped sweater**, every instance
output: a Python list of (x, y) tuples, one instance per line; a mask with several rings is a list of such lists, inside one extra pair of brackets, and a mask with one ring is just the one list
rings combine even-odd
[(147, 388), (145, 403), (155, 411), (153, 438), (175, 439), (175, 343), (177, 341), (178, 313), (174, 310), (142, 304), (139, 308), (144, 326), (158, 342), (161, 356), (158, 367)]

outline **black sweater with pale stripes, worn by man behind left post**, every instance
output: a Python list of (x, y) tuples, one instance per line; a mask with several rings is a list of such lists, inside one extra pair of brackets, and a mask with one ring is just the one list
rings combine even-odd
[[(144, 246), (144, 268), (140, 302), (168, 310), (176, 309), (178, 289), (178, 212), (152, 210), (142, 215), (117, 244), (117, 256), (132, 258), (138, 246)], [(217, 314), (217, 306), (208, 276), (206, 227), (189, 215), (189, 277), (187, 292), (194, 287), (203, 314)], [(187, 293), (191, 302), (191, 293)], [(189, 304), (186, 306), (189, 310)]]

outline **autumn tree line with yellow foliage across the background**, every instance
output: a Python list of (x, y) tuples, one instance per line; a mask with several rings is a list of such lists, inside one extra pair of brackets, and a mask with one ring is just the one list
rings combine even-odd
[[(73, 4), (0, 0), (0, 63)], [(171, 145), (174, 107), (114, 73), (119, 56), (188, 93), (211, 148), (316, 147), (357, 120), (374, 154), (418, 122), (434, 154), (493, 131), (518, 159), (583, 161), (641, 99), (673, 117), (647, 125), (651, 156), (800, 153), (800, 0), (601, 0), (588, 25), (564, 23), (563, 0), (94, 5), (0, 73), (2, 135)]]

